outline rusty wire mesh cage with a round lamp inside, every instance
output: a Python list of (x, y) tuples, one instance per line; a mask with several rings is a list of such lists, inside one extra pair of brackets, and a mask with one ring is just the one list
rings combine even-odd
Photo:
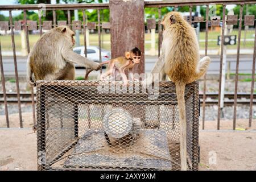
[[(122, 85), (122, 84), (121, 84)], [(180, 126), (175, 84), (38, 81), (39, 170), (179, 170)], [(154, 88), (154, 87), (153, 87)], [(199, 163), (198, 83), (185, 88), (187, 164)]]

